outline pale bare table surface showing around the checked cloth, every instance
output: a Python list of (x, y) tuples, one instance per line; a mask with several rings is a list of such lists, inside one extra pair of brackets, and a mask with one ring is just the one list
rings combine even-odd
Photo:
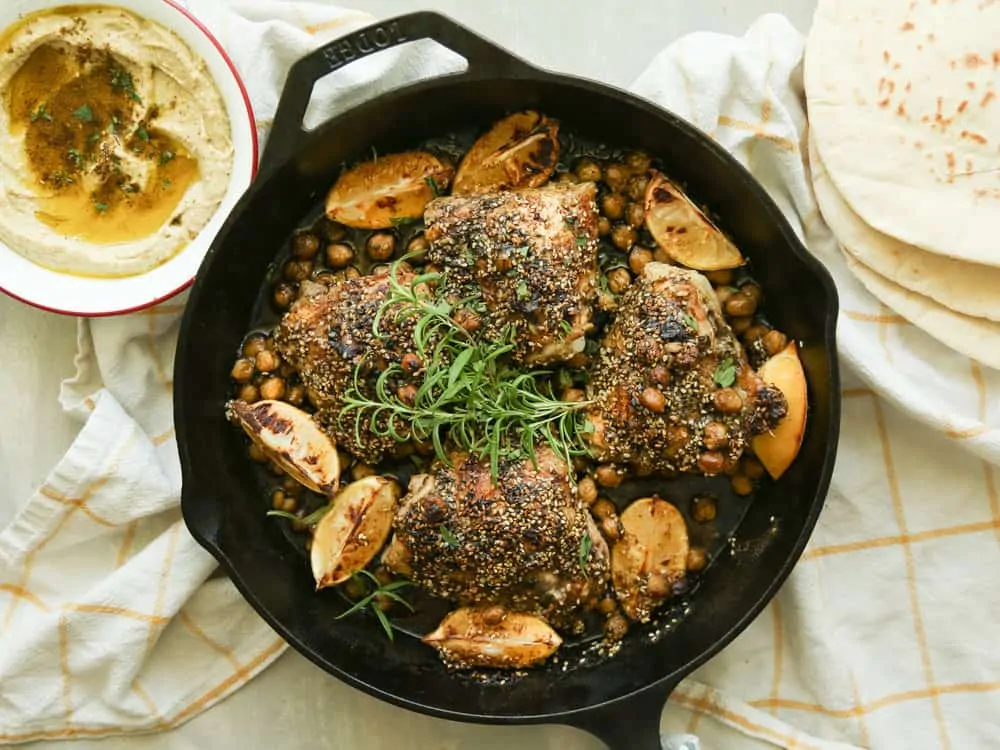
[[(762, 13), (784, 13), (803, 32), (815, 0), (342, 0), (385, 17), (440, 10), (543, 67), (628, 86), (678, 36), (742, 34)], [(76, 321), (0, 295), (0, 525), (7, 523), (69, 446), (77, 425), (56, 397), (73, 371)], [(56, 748), (39, 742), (27, 747)], [(562, 727), (480, 727), (411, 714), (327, 677), (289, 652), (234, 696), (173, 732), (74, 748), (165, 750), (597, 750)]]

